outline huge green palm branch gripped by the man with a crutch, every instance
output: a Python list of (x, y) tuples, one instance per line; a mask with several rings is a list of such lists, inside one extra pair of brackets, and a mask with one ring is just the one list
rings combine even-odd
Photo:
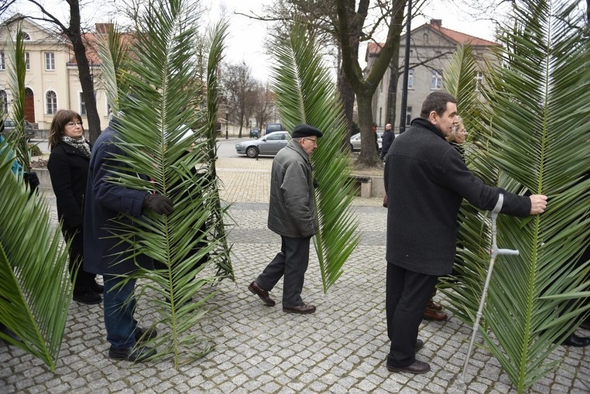
[[(578, 260), (590, 244), (590, 51), (575, 15), (563, 1), (517, 3), (514, 26), (500, 36), (506, 49), (486, 78), (489, 154), (470, 163), (491, 177), (494, 170), (483, 167), (497, 168), (497, 184), (506, 190), (549, 197), (542, 215), (500, 215), (498, 244), (520, 254), (497, 260), (480, 330), (483, 348), (519, 393), (555, 367), (559, 361), (547, 361), (555, 343), (589, 310), (580, 303), (590, 294), (590, 262)], [(471, 323), (487, 270), (478, 244), (488, 240), (488, 229), (483, 215), (462, 214), (459, 256), (470, 264), (457, 265), (462, 282), (445, 285), (454, 290), (447, 294), (458, 316)]]

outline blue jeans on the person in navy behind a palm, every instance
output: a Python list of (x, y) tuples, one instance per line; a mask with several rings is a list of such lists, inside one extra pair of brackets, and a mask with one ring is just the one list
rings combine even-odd
[(135, 329), (137, 321), (133, 319), (135, 312), (135, 280), (129, 280), (123, 287), (113, 289), (123, 282), (123, 278), (103, 275), (105, 289), (105, 328), (107, 341), (114, 348), (130, 348), (135, 346)]

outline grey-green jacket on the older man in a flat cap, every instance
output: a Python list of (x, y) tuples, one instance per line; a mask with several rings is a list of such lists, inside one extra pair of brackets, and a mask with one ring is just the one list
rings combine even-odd
[(268, 226), (287, 238), (318, 231), (310, 156), (293, 140), (272, 162)]

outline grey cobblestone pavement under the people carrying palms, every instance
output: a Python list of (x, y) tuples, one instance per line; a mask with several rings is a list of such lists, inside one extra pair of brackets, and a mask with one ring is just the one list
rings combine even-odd
[[(471, 328), (454, 316), (424, 321), (418, 359), (424, 375), (389, 373), (384, 312), (386, 215), (379, 198), (355, 201), (359, 247), (341, 276), (323, 294), (312, 248), (303, 298), (317, 307), (310, 315), (285, 314), (247, 291), (280, 249), (267, 229), (271, 159), (220, 159), (223, 197), (237, 222), (230, 233), (236, 283), (224, 282), (210, 302), (208, 318), (193, 328), (213, 339), (215, 350), (176, 370), (172, 361), (130, 364), (107, 357), (102, 305), (73, 302), (55, 373), (41, 361), (0, 342), (0, 393), (514, 393), (497, 359), (476, 349), (467, 382), (458, 382)], [(46, 193), (55, 221), (55, 197)], [(280, 300), (282, 282), (271, 292)], [(445, 304), (446, 300), (436, 298)], [(140, 301), (142, 325), (157, 319)], [(580, 331), (580, 335), (590, 332)], [(590, 349), (558, 348), (562, 359), (530, 393), (590, 393)]]

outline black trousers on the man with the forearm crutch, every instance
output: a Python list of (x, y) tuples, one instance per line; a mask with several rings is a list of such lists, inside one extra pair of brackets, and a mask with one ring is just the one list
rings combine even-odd
[(388, 366), (404, 368), (414, 363), (418, 328), (437, 279), (387, 263), (385, 308), (391, 341)]

